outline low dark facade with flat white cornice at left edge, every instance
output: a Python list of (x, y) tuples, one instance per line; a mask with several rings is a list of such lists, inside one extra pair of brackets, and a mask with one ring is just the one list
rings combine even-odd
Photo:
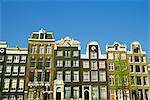
[[(23, 100), (28, 51), (26, 48), (9, 48), (0, 43), (1, 100)], [(3, 54), (2, 54), (3, 52)]]

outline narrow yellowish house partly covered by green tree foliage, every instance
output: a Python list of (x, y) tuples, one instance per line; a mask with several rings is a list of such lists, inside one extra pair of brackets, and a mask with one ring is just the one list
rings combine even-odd
[(127, 47), (114, 42), (106, 45), (108, 94), (110, 100), (130, 100)]

